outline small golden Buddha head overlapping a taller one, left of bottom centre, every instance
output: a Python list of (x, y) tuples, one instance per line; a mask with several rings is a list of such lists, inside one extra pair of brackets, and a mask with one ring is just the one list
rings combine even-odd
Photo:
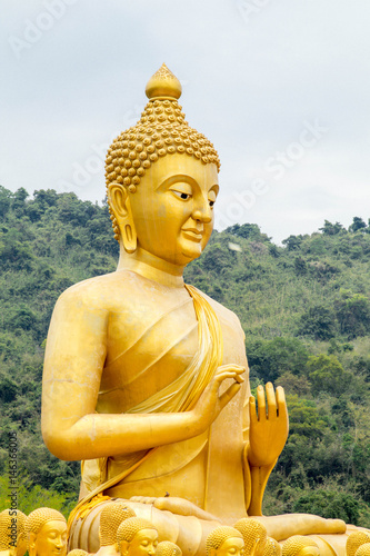
[(154, 556), (158, 530), (147, 519), (129, 517), (118, 528), (117, 544), (121, 556)]

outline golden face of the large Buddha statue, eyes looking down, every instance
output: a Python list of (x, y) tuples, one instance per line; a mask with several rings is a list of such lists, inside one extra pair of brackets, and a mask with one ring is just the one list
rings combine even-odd
[(216, 165), (178, 153), (160, 158), (129, 193), (138, 247), (178, 266), (199, 257), (218, 191)]

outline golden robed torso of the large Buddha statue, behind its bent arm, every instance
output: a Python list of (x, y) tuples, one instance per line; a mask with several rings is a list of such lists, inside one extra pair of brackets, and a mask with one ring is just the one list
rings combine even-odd
[[(156, 294), (147, 295), (150, 280), (140, 277), (142, 280), (140, 306), (131, 307), (132, 321), (122, 318), (121, 311), (111, 316), (98, 413), (108, 413), (107, 408), (109, 413), (133, 414), (188, 410), (219, 365), (246, 366), (243, 332), (231, 311), (192, 287), (187, 287), (186, 298), (157, 304), (153, 310)], [(129, 338), (122, 342), (128, 331)], [(224, 388), (231, 384), (227, 383)], [(243, 469), (242, 455), (246, 435), (248, 438), (248, 416), (243, 411), (247, 383), (213, 425), (194, 438), (149, 451), (84, 461), (82, 481), (89, 495), (82, 506), (98, 493), (121, 498), (169, 493), (223, 522), (246, 516), (248, 469)], [(146, 396), (149, 384), (157, 388)]]

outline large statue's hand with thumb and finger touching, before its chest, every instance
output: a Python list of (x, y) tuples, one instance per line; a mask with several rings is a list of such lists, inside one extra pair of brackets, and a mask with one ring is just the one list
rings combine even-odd
[[(199, 398), (192, 413), (200, 430), (206, 430), (221, 413), (223, 407), (238, 394), (244, 378), (241, 376), (246, 367), (239, 365), (222, 365), (217, 369), (210, 384)], [(233, 378), (234, 383), (220, 395), (219, 388), (223, 380)]]

